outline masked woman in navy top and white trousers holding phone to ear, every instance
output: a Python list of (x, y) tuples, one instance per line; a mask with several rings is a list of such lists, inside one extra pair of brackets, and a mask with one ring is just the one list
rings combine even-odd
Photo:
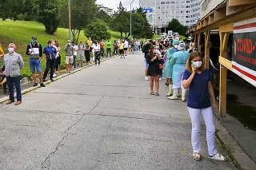
[(206, 140), (208, 157), (212, 160), (226, 160), (215, 148), (215, 125), (214, 113), (210, 98), (213, 102), (214, 111), (218, 111), (218, 105), (214, 97), (214, 89), (211, 85), (210, 70), (205, 69), (202, 54), (197, 51), (191, 52), (186, 61), (182, 85), (185, 89), (190, 88), (187, 99), (187, 108), (192, 123), (191, 144), (193, 147), (194, 160), (200, 160), (200, 115), (206, 124)]

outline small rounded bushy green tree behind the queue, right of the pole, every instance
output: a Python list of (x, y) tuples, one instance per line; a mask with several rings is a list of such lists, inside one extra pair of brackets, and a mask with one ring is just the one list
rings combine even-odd
[(107, 32), (107, 26), (105, 22), (99, 19), (95, 22), (91, 22), (84, 30), (85, 36), (92, 38), (93, 40), (106, 40), (111, 38), (111, 34)]

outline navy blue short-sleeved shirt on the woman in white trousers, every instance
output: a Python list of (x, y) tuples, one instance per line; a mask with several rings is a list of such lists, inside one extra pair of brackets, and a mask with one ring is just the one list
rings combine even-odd
[[(183, 80), (187, 80), (191, 73), (185, 70)], [(210, 81), (210, 71), (206, 69), (202, 73), (195, 73), (189, 87), (187, 106), (194, 109), (205, 109), (211, 106), (208, 82)]]

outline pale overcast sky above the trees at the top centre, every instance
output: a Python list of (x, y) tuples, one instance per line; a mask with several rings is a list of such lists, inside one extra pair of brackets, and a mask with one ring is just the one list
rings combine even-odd
[[(120, 1), (122, 2), (122, 6), (126, 8), (127, 11), (130, 10), (130, 2), (132, 0), (97, 0), (97, 4), (102, 4), (103, 6), (112, 8), (113, 10), (118, 10), (118, 6)], [(134, 2), (131, 4), (131, 9), (136, 9), (139, 7), (138, 5), (139, 0), (134, 0)]]

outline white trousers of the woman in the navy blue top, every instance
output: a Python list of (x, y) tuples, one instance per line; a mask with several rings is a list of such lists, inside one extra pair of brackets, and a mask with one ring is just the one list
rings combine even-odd
[(206, 109), (193, 109), (188, 107), (190, 113), (190, 119), (192, 123), (191, 131), (191, 144), (193, 152), (200, 152), (200, 115), (206, 124), (206, 140), (208, 146), (209, 156), (214, 156), (217, 153), (215, 148), (215, 125), (214, 125), (214, 113), (211, 107)]

